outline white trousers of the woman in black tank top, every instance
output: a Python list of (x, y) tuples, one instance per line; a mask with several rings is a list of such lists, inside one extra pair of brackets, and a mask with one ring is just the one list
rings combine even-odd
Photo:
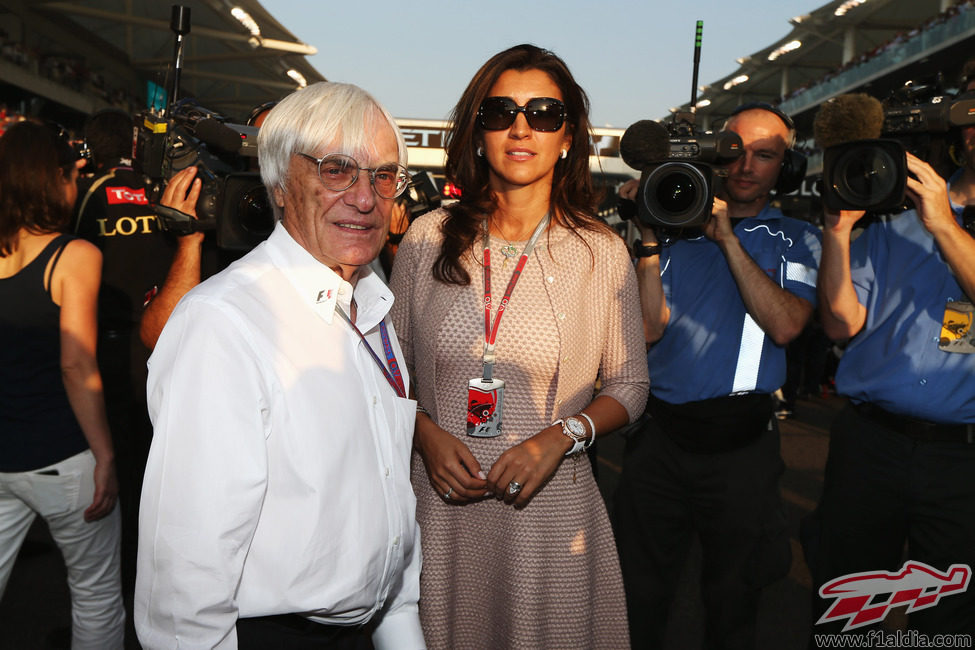
[(84, 512), (95, 494), (95, 457), (82, 452), (32, 472), (0, 472), (0, 597), (36, 515), (64, 555), (71, 589), (72, 650), (121, 650), (125, 609), (119, 571), (119, 509), (98, 521)]

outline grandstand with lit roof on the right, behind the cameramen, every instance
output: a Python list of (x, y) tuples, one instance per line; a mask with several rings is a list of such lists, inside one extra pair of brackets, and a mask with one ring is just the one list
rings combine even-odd
[[(831, 97), (864, 92), (883, 99), (938, 74), (950, 88), (975, 57), (973, 0), (833, 0), (789, 23), (782, 38), (699, 86), (700, 126), (720, 127), (736, 106), (761, 101), (789, 114), (801, 139)], [(691, 108), (688, 102), (673, 111)]]

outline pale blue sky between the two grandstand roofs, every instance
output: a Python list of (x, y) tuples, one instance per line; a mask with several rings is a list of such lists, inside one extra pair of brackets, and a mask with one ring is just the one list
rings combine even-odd
[(823, 0), (262, 0), (312, 65), (355, 83), (396, 117), (443, 119), (491, 55), (518, 43), (565, 59), (593, 124), (625, 128), (690, 100), (694, 24), (704, 21), (699, 85), (787, 35)]

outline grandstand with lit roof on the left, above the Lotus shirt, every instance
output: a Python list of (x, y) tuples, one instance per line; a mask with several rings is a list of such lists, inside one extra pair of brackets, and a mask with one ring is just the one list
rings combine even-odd
[(324, 80), (300, 42), (256, 0), (0, 0), (0, 102), (76, 127), (132, 113), (170, 87), (172, 5), (190, 10), (181, 95), (241, 121), (252, 107)]

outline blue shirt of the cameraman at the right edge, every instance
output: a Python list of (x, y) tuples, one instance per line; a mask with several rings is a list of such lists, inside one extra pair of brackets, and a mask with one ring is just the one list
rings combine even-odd
[(867, 320), (840, 360), (837, 391), (932, 422), (975, 422), (975, 354), (938, 347), (946, 304), (967, 298), (917, 213), (868, 226), (850, 270)]

